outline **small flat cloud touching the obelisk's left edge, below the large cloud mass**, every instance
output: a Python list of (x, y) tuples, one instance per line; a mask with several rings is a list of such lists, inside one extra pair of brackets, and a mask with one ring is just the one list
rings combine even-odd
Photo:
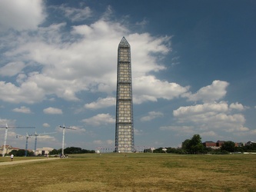
[(101, 124), (115, 124), (115, 119), (110, 114), (97, 114), (92, 118), (83, 119), (82, 122), (93, 126), (100, 126)]

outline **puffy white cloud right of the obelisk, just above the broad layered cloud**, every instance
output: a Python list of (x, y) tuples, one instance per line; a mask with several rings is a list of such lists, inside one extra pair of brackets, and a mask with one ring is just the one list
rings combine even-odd
[(188, 101), (203, 101), (204, 103), (219, 101), (224, 98), (227, 91), (228, 82), (215, 80), (211, 85), (198, 90), (195, 94), (184, 94)]

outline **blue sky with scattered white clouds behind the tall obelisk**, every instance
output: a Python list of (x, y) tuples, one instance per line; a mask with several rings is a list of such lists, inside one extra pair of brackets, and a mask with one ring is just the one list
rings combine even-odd
[[(0, 2), (0, 124), (38, 147), (114, 147), (117, 49), (131, 45), (135, 146), (255, 141), (256, 2)], [(0, 142), (4, 143), (4, 129)], [(28, 148), (33, 149), (29, 139)]]

